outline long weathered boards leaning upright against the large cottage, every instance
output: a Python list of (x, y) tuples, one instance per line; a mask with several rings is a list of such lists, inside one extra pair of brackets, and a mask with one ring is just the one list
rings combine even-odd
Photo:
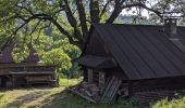
[(106, 86), (106, 90), (104, 90), (102, 97), (101, 97), (101, 102), (106, 102), (106, 103), (114, 102), (118, 90), (119, 90), (121, 83), (122, 83), (122, 80), (120, 80), (115, 77), (112, 77), (112, 79), (110, 80), (110, 82)]

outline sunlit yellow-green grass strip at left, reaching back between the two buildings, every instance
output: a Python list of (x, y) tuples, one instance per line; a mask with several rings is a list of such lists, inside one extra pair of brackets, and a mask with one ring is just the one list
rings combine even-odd
[(62, 93), (66, 86), (77, 84), (82, 79), (60, 79), (59, 87), (28, 87), (0, 91), (0, 108), (37, 108), (52, 99), (52, 95)]

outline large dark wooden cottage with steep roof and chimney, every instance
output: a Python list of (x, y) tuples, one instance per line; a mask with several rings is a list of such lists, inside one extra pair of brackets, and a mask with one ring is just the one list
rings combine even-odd
[(99, 99), (91, 91), (77, 91), (90, 100), (172, 97), (185, 89), (185, 27), (172, 18), (164, 26), (94, 24), (76, 62), (84, 68), (84, 83), (99, 87)]

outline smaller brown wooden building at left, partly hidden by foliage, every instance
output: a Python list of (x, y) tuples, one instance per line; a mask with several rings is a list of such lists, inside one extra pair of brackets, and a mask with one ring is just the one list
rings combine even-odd
[(0, 55), (0, 86), (32, 85), (46, 83), (54, 85), (54, 66), (38, 65), (39, 58), (32, 45), (28, 45), (29, 56), (22, 63), (12, 58), (13, 44), (5, 46)]

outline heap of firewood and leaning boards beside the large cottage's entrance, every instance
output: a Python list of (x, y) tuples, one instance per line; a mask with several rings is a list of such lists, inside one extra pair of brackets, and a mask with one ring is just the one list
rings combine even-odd
[(96, 83), (82, 82), (79, 85), (69, 89), (72, 93), (88, 99), (91, 103), (112, 103), (118, 96), (119, 87), (122, 81), (115, 77), (109, 79), (106, 87), (101, 90)]

